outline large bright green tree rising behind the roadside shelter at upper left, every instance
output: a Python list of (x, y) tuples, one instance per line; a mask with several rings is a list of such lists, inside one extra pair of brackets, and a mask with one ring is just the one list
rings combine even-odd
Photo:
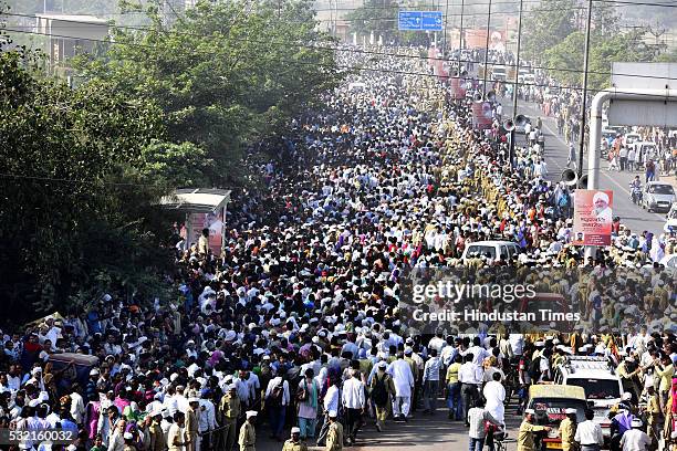
[(305, 0), (200, 2), (170, 28), (148, 13), (148, 30), (118, 30), (82, 76), (158, 105), (171, 140), (215, 161), (212, 186), (242, 181), (243, 148), (283, 133), (340, 80), (332, 41), (315, 31)]

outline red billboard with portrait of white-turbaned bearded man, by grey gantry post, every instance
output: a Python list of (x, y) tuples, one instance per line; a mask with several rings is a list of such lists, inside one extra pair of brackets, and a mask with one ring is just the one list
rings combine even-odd
[(577, 189), (574, 195), (573, 243), (611, 245), (614, 192)]

